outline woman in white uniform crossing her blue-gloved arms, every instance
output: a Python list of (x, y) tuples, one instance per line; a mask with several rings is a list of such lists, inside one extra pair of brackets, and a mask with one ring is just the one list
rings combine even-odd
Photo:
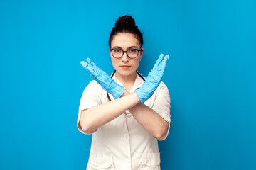
[(160, 55), (146, 80), (137, 72), (144, 49), (132, 16), (119, 17), (109, 45), (112, 77), (88, 58), (81, 62), (95, 79), (78, 113), (80, 132), (93, 134), (87, 169), (160, 169), (157, 140), (167, 137), (171, 121), (169, 91), (161, 82), (169, 56)]

